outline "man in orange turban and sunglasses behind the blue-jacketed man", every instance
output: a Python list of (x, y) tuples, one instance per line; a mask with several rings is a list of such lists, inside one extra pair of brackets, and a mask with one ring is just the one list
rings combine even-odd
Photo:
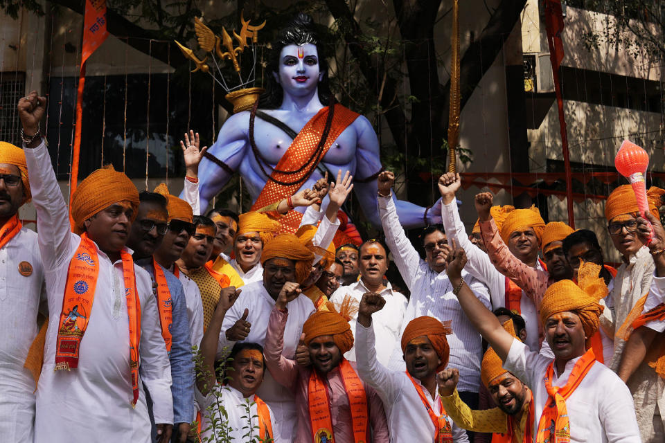
[[(166, 211), (168, 213), (168, 230), (163, 235), (161, 243), (154, 251), (154, 261), (175, 274), (182, 284), (187, 305), (187, 320), (191, 343), (198, 346), (203, 337), (203, 305), (201, 291), (198, 285), (184, 272), (180, 272), (175, 264), (189, 244), (196, 227), (193, 223), (192, 207), (186, 201), (175, 197), (168, 192), (166, 183), (160, 183), (154, 192), (166, 197)], [(240, 278), (238, 278), (240, 280)]]

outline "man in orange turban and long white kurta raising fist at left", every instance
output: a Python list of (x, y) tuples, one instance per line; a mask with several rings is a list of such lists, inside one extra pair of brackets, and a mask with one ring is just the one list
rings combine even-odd
[[(46, 98), (19, 101), (25, 134), (37, 134)], [(26, 162), (37, 209), (48, 310), (37, 388), (35, 442), (148, 443), (150, 391), (161, 442), (170, 438), (170, 365), (150, 276), (125, 247), (139, 192), (122, 172), (96, 170), (71, 200), (75, 233), (42, 139)]]

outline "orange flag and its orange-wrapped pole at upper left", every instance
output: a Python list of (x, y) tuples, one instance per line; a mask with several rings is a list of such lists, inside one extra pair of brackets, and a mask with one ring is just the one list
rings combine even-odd
[[(71, 178), (69, 184), (69, 201), (76, 191), (78, 184), (78, 159), (81, 150), (81, 123), (83, 119), (83, 88), (85, 87), (85, 62), (88, 57), (109, 36), (106, 28), (106, 0), (86, 0), (85, 17), (83, 19), (83, 48), (81, 51), (81, 71), (78, 76), (78, 91), (76, 93), (76, 132), (71, 155)], [(74, 226), (69, 207), (69, 221)]]

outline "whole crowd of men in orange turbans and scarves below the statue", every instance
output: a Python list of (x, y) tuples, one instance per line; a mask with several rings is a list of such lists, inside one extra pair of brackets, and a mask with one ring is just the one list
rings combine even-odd
[[(338, 231), (341, 172), (204, 216), (193, 133), (184, 199), (103, 168), (68, 208), (45, 107), (21, 98), (24, 145), (0, 143), (1, 441), (665, 440), (664, 190), (644, 217), (630, 186), (608, 197), (618, 269), (596, 233), (488, 192), (468, 234), (451, 173), (442, 224), (418, 244), (387, 171), (384, 240)], [(17, 215), (30, 199), (37, 233)], [(291, 233), (280, 219), (295, 208)]]

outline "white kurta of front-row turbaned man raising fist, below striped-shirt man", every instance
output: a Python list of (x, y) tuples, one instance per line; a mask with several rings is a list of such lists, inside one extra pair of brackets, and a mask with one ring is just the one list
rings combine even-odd
[[(375, 314), (376, 315), (376, 314)], [(390, 441), (394, 443), (434, 442), (434, 423), (429, 417), (418, 390), (411, 383), (406, 372), (391, 371), (376, 359), (374, 321), (369, 327), (360, 323), (355, 326), (355, 350), (357, 354), (356, 368), (364, 383), (373, 387), (383, 401), (390, 431)], [(414, 379), (420, 384), (418, 379)], [(420, 385), (422, 386), (422, 385)], [(423, 388), (429, 406), (436, 415), (441, 415), (441, 401), (438, 389), (434, 398)], [(450, 417), (447, 422), (452, 426), (452, 440), (455, 443), (468, 442), (466, 431), (459, 428)]]

